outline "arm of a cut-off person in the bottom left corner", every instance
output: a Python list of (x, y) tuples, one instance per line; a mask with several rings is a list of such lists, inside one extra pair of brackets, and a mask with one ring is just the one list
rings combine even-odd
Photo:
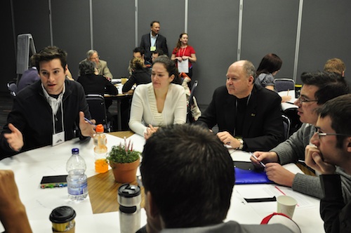
[(0, 221), (5, 232), (32, 233), (11, 170), (0, 170), (0, 197)]

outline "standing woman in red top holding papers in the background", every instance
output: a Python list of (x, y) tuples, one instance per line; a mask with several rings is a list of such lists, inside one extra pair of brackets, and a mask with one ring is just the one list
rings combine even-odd
[[(173, 49), (171, 60), (174, 60), (176, 62), (176, 66), (180, 65), (180, 62), (186, 62), (188, 72), (184, 72), (187, 74), (187, 76), (192, 79), (192, 62), (197, 62), (197, 56), (195, 54), (195, 50), (192, 46), (187, 44), (187, 41), (189, 40), (189, 36), (187, 33), (182, 33), (179, 36), (177, 46), (176, 48)], [(191, 88), (190, 82), (188, 83), (189, 88)]]

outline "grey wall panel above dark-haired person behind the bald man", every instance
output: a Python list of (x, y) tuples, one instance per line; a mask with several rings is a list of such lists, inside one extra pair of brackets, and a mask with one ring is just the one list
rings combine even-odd
[(293, 78), (298, 4), (296, 0), (245, 0), (240, 58), (251, 60), (257, 68), (264, 55), (275, 53), (283, 60), (277, 77)]

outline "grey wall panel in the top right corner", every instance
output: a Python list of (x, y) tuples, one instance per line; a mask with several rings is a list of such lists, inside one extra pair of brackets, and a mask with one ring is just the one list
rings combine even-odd
[(298, 81), (302, 72), (323, 70), (330, 58), (345, 62), (345, 76), (350, 80), (350, 6), (349, 0), (303, 2)]

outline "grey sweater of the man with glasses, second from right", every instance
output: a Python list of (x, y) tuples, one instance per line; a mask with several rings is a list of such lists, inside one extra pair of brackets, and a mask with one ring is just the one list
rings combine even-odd
[[(270, 151), (276, 152), (280, 164), (296, 163), (298, 159), (305, 160), (305, 147), (310, 144), (310, 138), (315, 129), (312, 124), (303, 124), (298, 131), (293, 133), (290, 138), (277, 145)], [(351, 175), (347, 175), (340, 167), (336, 167), (336, 173), (340, 175), (343, 198), (347, 203), (351, 201)], [(293, 179), (292, 189), (296, 192), (318, 197), (322, 199), (323, 191), (319, 177), (298, 173)]]

